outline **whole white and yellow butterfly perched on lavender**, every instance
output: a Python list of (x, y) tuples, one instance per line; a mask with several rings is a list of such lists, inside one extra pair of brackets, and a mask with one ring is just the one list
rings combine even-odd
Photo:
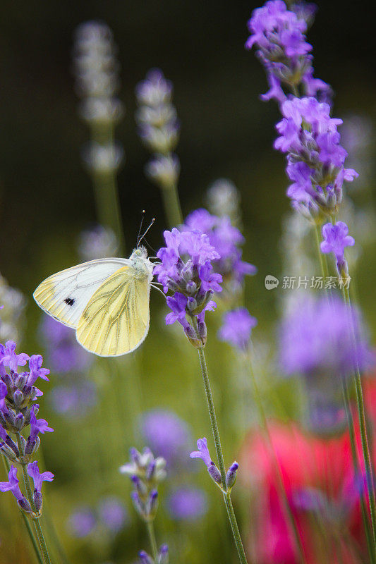
[(51, 317), (75, 329), (90, 353), (126, 355), (149, 331), (153, 268), (140, 245), (129, 259), (95, 259), (52, 274), (33, 297)]

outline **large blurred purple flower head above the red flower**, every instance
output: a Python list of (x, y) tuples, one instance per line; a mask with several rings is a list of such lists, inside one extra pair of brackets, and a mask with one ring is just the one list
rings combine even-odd
[[(353, 319), (356, 344), (351, 330)], [(374, 358), (363, 335), (360, 314), (333, 297), (317, 300), (305, 297), (283, 321), (279, 338), (279, 358), (286, 374), (340, 374), (348, 376), (358, 363), (370, 367)]]

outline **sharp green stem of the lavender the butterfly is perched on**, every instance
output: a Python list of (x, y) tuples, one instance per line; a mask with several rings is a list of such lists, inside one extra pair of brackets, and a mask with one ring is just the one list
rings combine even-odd
[[(200, 338), (198, 333), (198, 323), (196, 317), (191, 316), (193, 326), (195, 328), (196, 335)], [(238, 523), (236, 522), (236, 516), (234, 513), (234, 508), (231, 503), (230, 492), (226, 491), (226, 469), (224, 465), (224, 458), (222, 453), (221, 439), (219, 437), (219, 429), (217, 423), (217, 417), (215, 415), (214, 400), (212, 396), (212, 388), (210, 387), (209, 374), (207, 372), (207, 365), (205, 360), (204, 348), (198, 348), (198, 357), (200, 359), (200, 367), (202, 373), (202, 379), (204, 380), (205, 394), (207, 399), (207, 407), (209, 408), (210, 423), (212, 424), (212, 434), (214, 438), (215, 450), (217, 453), (217, 460), (219, 465), (219, 472), (221, 472), (222, 477), (222, 491), (224, 494), (224, 503), (226, 505), (227, 515), (229, 516), (229, 522), (231, 525), (232, 534), (236, 544), (236, 549), (238, 551), (238, 557), (241, 564), (248, 564), (247, 558), (245, 556), (245, 551), (243, 548), (243, 543), (241, 541), (241, 534), (239, 532)]]

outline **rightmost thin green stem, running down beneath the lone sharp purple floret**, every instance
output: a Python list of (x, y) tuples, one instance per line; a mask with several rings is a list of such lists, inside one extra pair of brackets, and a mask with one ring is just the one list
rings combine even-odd
[[(351, 314), (351, 333), (354, 346), (356, 345), (356, 335), (354, 331), (354, 321), (353, 321), (353, 312), (351, 307), (351, 299), (350, 293), (346, 285), (342, 286), (344, 300), (350, 309)], [(362, 442), (362, 450), (363, 450), (363, 459), (364, 459), (364, 466), (365, 466), (365, 481), (367, 484), (368, 490), (368, 503), (370, 505), (370, 515), (371, 515), (371, 523), (372, 523), (372, 537), (373, 537), (373, 546), (374, 551), (376, 551), (376, 501), (375, 501), (375, 483), (373, 479), (373, 467), (370, 457), (370, 446), (368, 443), (368, 433), (367, 433), (367, 424), (366, 424), (366, 416), (365, 416), (365, 405), (364, 405), (364, 398), (363, 398), (363, 386), (362, 380), (360, 377), (360, 370), (358, 361), (355, 362), (355, 370), (353, 374), (355, 380), (355, 390), (356, 390), (356, 403), (358, 406), (358, 416), (359, 416), (359, 425), (360, 425), (360, 438)]]

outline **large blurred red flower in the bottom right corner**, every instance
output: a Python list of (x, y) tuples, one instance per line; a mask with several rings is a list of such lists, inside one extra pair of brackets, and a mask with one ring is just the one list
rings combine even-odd
[[(366, 396), (370, 410), (375, 411), (375, 384), (368, 384)], [(252, 431), (239, 460), (239, 479), (257, 492), (251, 514), (254, 529), (248, 542), (257, 563), (301, 563), (284, 505), (277, 461), (307, 563), (367, 561), (359, 501), (363, 484), (353, 471), (348, 433), (322, 439), (306, 434), (296, 423), (269, 422), (269, 435), (271, 444), (265, 432)], [(356, 443), (361, 460), (357, 427)]]

